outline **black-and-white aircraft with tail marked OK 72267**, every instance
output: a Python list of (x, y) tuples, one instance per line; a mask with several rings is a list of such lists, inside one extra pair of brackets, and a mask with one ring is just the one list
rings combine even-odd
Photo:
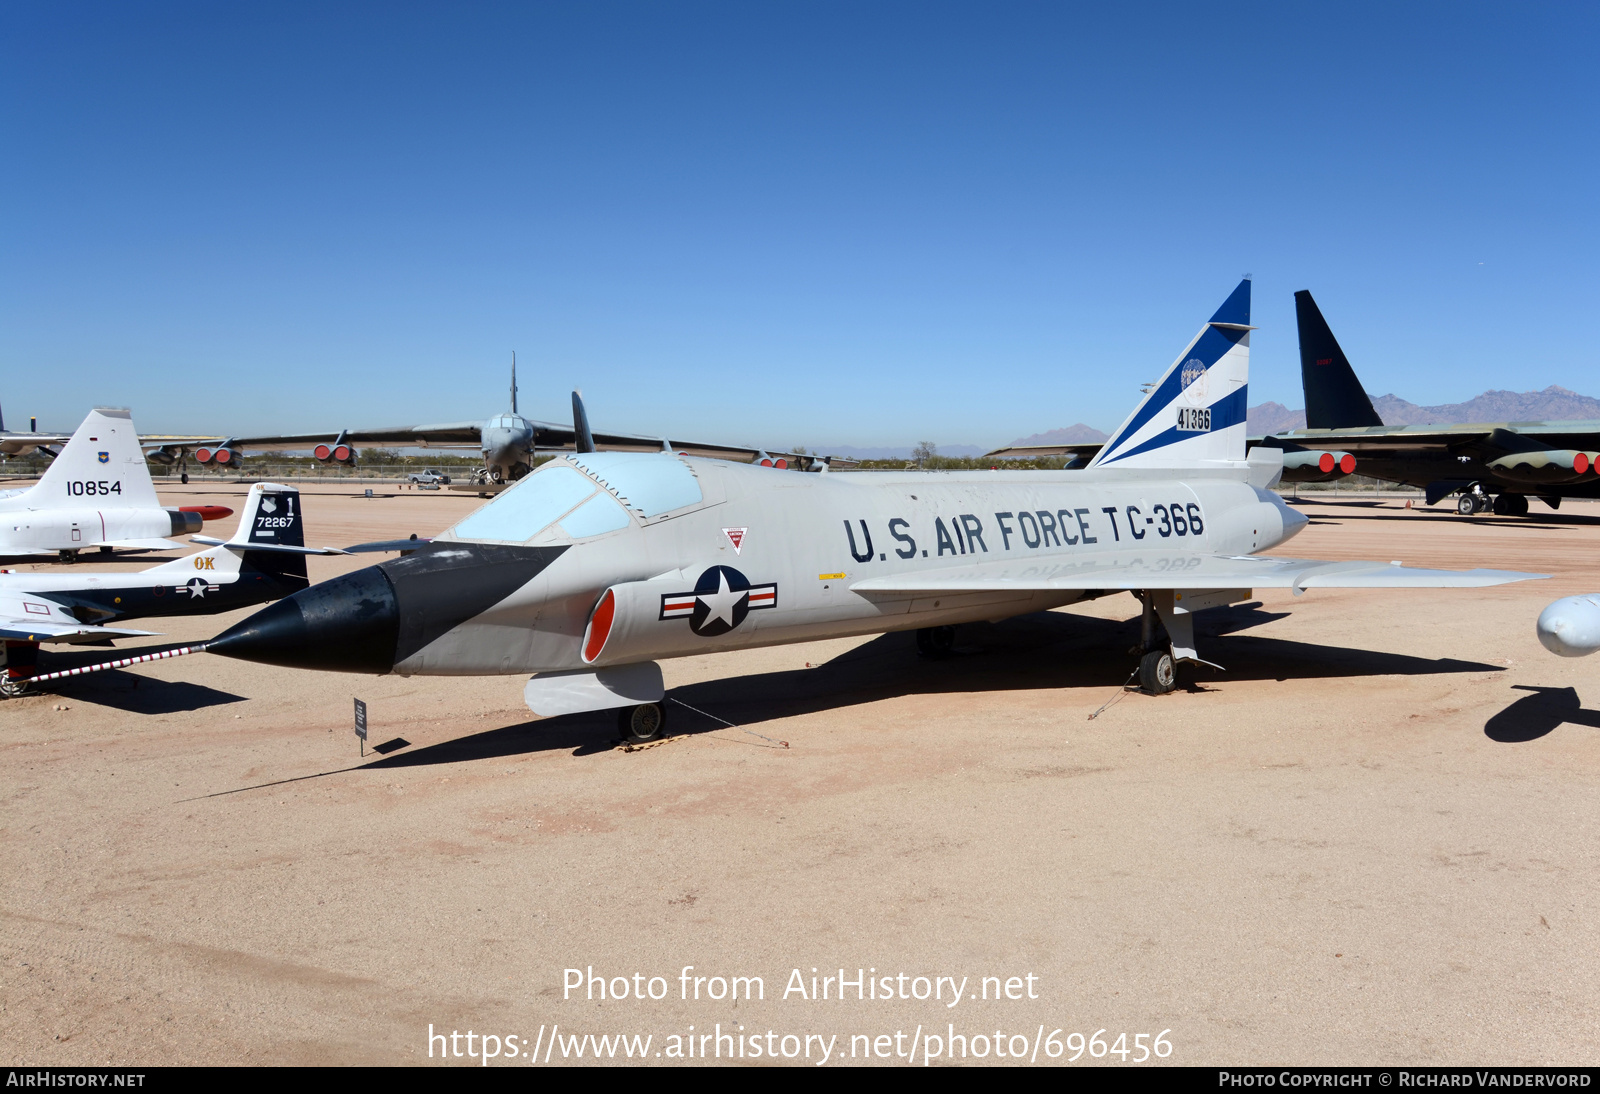
[(27, 573), (0, 569), (0, 696), (24, 694), (38, 645), (102, 643), (147, 637), (120, 625), (150, 616), (214, 616), (288, 597), (310, 582), (306, 555), (342, 553), (306, 547), (299, 491), (254, 483), (238, 529), (210, 550), (136, 573)]

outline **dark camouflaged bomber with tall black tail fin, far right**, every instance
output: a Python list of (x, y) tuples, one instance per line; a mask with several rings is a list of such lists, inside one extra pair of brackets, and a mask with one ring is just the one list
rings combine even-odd
[(1600, 497), (1600, 421), (1384, 425), (1310, 293), (1294, 294), (1294, 317), (1306, 429), (1259, 441), (1282, 448), (1285, 464), (1349, 462), (1421, 488), (1429, 505), (1459, 494), (1464, 515), (1526, 517), (1531, 496), (1550, 509), (1562, 497)]

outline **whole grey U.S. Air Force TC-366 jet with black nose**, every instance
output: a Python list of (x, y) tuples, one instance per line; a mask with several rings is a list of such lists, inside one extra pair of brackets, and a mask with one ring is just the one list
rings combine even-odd
[[(312, 585), (195, 648), (360, 673), (534, 673), (539, 715), (662, 731), (661, 657), (954, 625), (1131, 592), (1139, 673), (1200, 661), (1194, 613), (1251, 589), (1475, 587), (1502, 569), (1261, 558), (1306, 518), (1245, 457), (1242, 281), (1083, 470), (774, 473), (672, 453), (550, 461), (424, 550)], [(749, 552), (746, 555), (744, 552)], [(1158, 627), (1166, 640), (1158, 641)]]

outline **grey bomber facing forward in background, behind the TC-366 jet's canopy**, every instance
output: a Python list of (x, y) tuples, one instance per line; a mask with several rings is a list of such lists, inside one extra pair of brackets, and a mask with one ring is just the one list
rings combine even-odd
[[(758, 448), (738, 445), (707, 445), (702, 441), (670, 440), (664, 437), (635, 437), (632, 433), (605, 433), (589, 429), (582, 401), (573, 392), (573, 424), (558, 425), (538, 422), (517, 413), (517, 365), (510, 371), (510, 411), (477, 422), (443, 422), (424, 425), (394, 425), (389, 429), (341, 429), (322, 433), (282, 433), (270, 437), (216, 438), (194, 449), (195, 462), (208, 467), (240, 467), (245, 451), (310, 451), (325, 464), (355, 465), (362, 445), (384, 448), (462, 448), (483, 453), (480, 483), (515, 481), (528, 473), (539, 453), (558, 451), (619, 451), (658, 453), (670, 449), (688, 456), (709, 456), (763, 462), (768, 467), (808, 469), (816, 459), (803, 453), (770, 454)], [(184, 459), (187, 449), (166, 451), (155, 457)], [(184, 480), (187, 481), (187, 480)]]

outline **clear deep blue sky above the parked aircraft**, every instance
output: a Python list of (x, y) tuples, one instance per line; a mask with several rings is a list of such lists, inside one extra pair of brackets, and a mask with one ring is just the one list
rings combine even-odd
[[(1373, 393), (1600, 395), (1597, 5), (0, 8), (0, 405), (1114, 427), (1245, 272)], [(26, 422), (24, 422), (26, 424)]]

